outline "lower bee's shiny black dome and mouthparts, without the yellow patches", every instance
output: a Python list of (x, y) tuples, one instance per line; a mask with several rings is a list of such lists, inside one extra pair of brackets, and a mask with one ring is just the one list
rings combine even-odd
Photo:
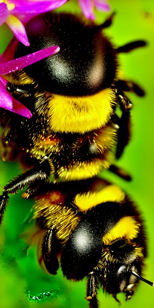
[[(109, 228), (112, 224), (114, 221), (111, 223), (109, 220)], [(92, 275), (97, 277), (96, 280), (107, 293), (116, 297), (116, 294), (123, 292), (126, 299), (130, 299), (138, 281), (132, 271), (140, 275), (144, 249), (121, 238), (111, 245), (102, 245), (103, 227), (98, 219), (94, 219), (93, 223), (87, 217), (79, 221), (63, 248), (63, 274), (73, 280)]]

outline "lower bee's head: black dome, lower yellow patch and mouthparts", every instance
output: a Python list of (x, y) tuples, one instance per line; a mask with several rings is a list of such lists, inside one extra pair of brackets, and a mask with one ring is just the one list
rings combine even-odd
[(92, 207), (75, 227), (61, 255), (62, 271), (68, 279), (97, 277), (103, 290), (115, 298), (123, 292), (126, 300), (140, 279), (145, 254), (139, 222), (133, 213), (123, 215), (122, 207), (126, 211), (127, 206), (131, 213), (129, 202)]

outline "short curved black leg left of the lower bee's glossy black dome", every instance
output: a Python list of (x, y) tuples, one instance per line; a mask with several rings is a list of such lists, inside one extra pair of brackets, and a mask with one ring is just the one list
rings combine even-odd
[(59, 262), (56, 256), (56, 237), (53, 229), (47, 230), (42, 243), (42, 256), (46, 269), (50, 274), (57, 274)]

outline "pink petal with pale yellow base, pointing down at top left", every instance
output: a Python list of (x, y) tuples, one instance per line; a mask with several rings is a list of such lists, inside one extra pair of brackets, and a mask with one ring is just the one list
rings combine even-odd
[(18, 18), (13, 15), (9, 15), (5, 22), (16, 38), (25, 46), (29, 46), (30, 43), (28, 42), (27, 34), (24, 25)]

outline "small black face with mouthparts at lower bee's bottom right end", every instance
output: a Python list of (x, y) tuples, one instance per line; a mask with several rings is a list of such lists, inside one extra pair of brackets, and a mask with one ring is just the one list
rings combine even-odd
[(133, 286), (141, 273), (142, 249), (135, 244), (128, 244), (124, 239), (118, 239), (102, 250), (101, 263), (103, 264), (100, 278), (101, 285), (106, 292), (116, 297), (117, 293), (124, 292), (126, 300), (133, 294)]

